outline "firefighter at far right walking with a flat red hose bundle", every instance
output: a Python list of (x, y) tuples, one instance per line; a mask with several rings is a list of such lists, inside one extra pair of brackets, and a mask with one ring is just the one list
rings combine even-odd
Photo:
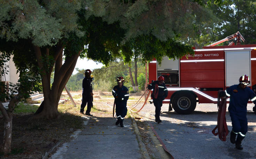
[(239, 150), (243, 149), (241, 143), (245, 138), (248, 129), (246, 117), (248, 100), (250, 99), (256, 104), (256, 95), (253, 90), (247, 87), (249, 84), (250, 78), (247, 75), (243, 75), (239, 78), (238, 85), (233, 85), (225, 90), (226, 96), (230, 96), (230, 103), (228, 106), (228, 112), (230, 113), (232, 121), (230, 141), (231, 143), (235, 143), (235, 147)]

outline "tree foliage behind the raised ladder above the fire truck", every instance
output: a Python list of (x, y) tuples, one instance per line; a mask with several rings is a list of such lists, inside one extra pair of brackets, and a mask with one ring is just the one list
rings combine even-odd
[[(212, 10), (218, 20), (205, 29), (206, 32), (202, 32), (200, 38), (189, 41), (189, 44), (208, 45), (238, 31), (245, 38), (245, 42), (241, 44), (256, 43), (256, 2), (254, 0), (224, 0), (221, 5), (211, 2), (207, 7)], [(219, 45), (228, 45), (230, 42)]]

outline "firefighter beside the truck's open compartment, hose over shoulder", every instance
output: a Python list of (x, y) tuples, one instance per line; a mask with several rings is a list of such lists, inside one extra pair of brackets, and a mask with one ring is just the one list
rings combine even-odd
[(159, 124), (162, 122), (160, 120), (160, 112), (163, 105), (163, 100), (168, 95), (168, 90), (164, 84), (164, 77), (159, 76), (157, 81), (154, 81), (148, 85), (148, 89), (153, 89), (151, 97), (153, 98), (153, 103), (155, 106), (155, 121)]

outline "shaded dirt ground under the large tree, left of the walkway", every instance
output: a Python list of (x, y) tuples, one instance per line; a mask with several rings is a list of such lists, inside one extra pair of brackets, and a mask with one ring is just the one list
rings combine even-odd
[[(73, 114), (61, 114), (54, 120), (30, 120), (31, 115), (14, 115), (11, 154), (0, 158), (42, 158), (55, 144), (70, 140), (70, 135), (82, 128), (82, 118)], [(0, 123), (3, 118), (0, 117)], [(2, 125), (3, 127), (3, 125)], [(3, 129), (0, 129), (0, 143), (3, 143)]]

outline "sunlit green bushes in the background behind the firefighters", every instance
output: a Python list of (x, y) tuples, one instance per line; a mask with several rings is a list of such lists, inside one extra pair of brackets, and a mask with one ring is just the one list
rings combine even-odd
[[(92, 75), (94, 80), (92, 82), (93, 91), (111, 91), (116, 83), (118, 76), (123, 76), (125, 79), (124, 86), (126, 86), (131, 92), (133, 92), (131, 79), (129, 75), (128, 64), (124, 64), (123, 60), (115, 59), (115, 61), (109, 63), (109, 67), (103, 66), (100, 69), (94, 69)], [(138, 70), (138, 85), (139, 90), (145, 89), (145, 64), (139, 59), (137, 62)], [(134, 62), (131, 62), (132, 76), (134, 78)], [(84, 79), (85, 69), (78, 70), (78, 73), (72, 75), (67, 83), (67, 88), (70, 91), (81, 91), (82, 83)]]

